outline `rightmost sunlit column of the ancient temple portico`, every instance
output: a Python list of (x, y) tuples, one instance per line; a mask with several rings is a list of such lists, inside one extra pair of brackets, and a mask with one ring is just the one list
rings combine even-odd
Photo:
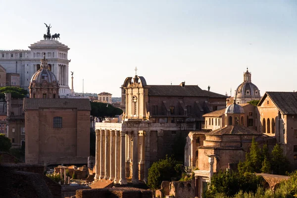
[(145, 134), (144, 131), (139, 133), (138, 137), (138, 178), (141, 181), (145, 179)]

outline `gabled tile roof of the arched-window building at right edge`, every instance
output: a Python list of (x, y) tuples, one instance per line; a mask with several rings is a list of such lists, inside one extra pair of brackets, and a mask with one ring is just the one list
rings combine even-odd
[(261, 106), (267, 96), (269, 96), (282, 114), (297, 114), (297, 92), (266, 92), (258, 106)]

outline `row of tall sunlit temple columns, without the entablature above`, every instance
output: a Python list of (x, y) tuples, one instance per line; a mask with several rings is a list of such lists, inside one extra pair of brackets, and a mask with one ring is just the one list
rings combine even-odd
[[(96, 130), (95, 179), (126, 184), (132, 163), (132, 183), (148, 181), (149, 132)], [(127, 171), (127, 172), (126, 172)]]

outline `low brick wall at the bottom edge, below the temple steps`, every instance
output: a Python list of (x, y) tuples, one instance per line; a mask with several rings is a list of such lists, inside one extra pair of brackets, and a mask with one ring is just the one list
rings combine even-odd
[(77, 190), (76, 198), (152, 198), (151, 191), (137, 188), (105, 188)]

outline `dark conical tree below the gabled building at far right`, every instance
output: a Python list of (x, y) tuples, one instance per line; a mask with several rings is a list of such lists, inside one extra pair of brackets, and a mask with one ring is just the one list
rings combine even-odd
[(271, 169), (273, 174), (285, 175), (289, 171), (289, 161), (284, 155), (283, 148), (275, 145), (271, 152)]

